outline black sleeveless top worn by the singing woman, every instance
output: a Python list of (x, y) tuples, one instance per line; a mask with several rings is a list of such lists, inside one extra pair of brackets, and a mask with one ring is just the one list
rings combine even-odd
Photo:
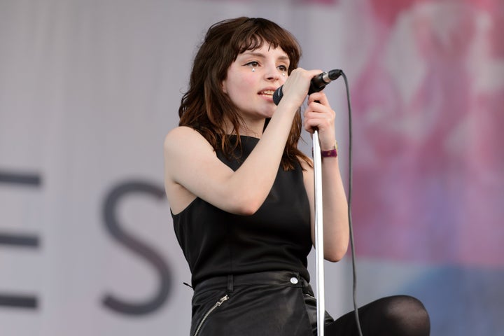
[[(239, 160), (217, 156), (237, 170), (258, 141), (242, 136)], [(172, 217), (193, 286), (212, 276), (271, 270), (299, 272), (309, 281), (309, 203), (299, 164), (293, 171), (279, 168), (272, 190), (251, 216), (230, 214), (197, 197)]]

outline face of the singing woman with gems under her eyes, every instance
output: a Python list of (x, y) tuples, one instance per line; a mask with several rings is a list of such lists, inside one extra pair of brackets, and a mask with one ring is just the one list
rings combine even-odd
[(276, 109), (273, 92), (285, 83), (288, 66), (286, 52), (270, 48), (269, 43), (246, 50), (230, 65), (223, 91), (246, 122), (271, 118)]

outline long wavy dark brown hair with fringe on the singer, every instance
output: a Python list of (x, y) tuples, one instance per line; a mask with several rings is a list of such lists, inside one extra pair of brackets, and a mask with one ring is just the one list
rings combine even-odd
[[(179, 126), (197, 130), (214, 151), (221, 150), (228, 158), (234, 155), (235, 150), (241, 150), (239, 129), (243, 120), (223, 92), (222, 82), (239, 54), (261, 48), (263, 43), (286, 52), (290, 60), (289, 74), (297, 68), (301, 57), (300, 45), (290, 32), (276, 23), (262, 18), (241, 17), (212, 25), (195, 56), (189, 89), (181, 99)], [(226, 134), (225, 122), (232, 125), (237, 135), (233, 143)], [(311, 165), (309, 158), (297, 149), (301, 128), (301, 116), (296, 113), (281, 159), (284, 170), (294, 169), (300, 159)]]

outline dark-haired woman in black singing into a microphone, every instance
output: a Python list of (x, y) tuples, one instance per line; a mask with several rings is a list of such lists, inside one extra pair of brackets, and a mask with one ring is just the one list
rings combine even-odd
[[(300, 47), (269, 20), (237, 18), (207, 31), (193, 63), (179, 127), (165, 139), (165, 188), (179, 244), (192, 272), (190, 335), (316, 334), (307, 255), (314, 244), (313, 165), (297, 149), (311, 78)], [(272, 94), (283, 85), (276, 106)], [(347, 204), (336, 158), (335, 112), (311, 94), (304, 129), (318, 129), (324, 258), (343, 258)], [(413, 297), (360, 308), (364, 335), (428, 335)], [(353, 314), (326, 335), (356, 335)]]

